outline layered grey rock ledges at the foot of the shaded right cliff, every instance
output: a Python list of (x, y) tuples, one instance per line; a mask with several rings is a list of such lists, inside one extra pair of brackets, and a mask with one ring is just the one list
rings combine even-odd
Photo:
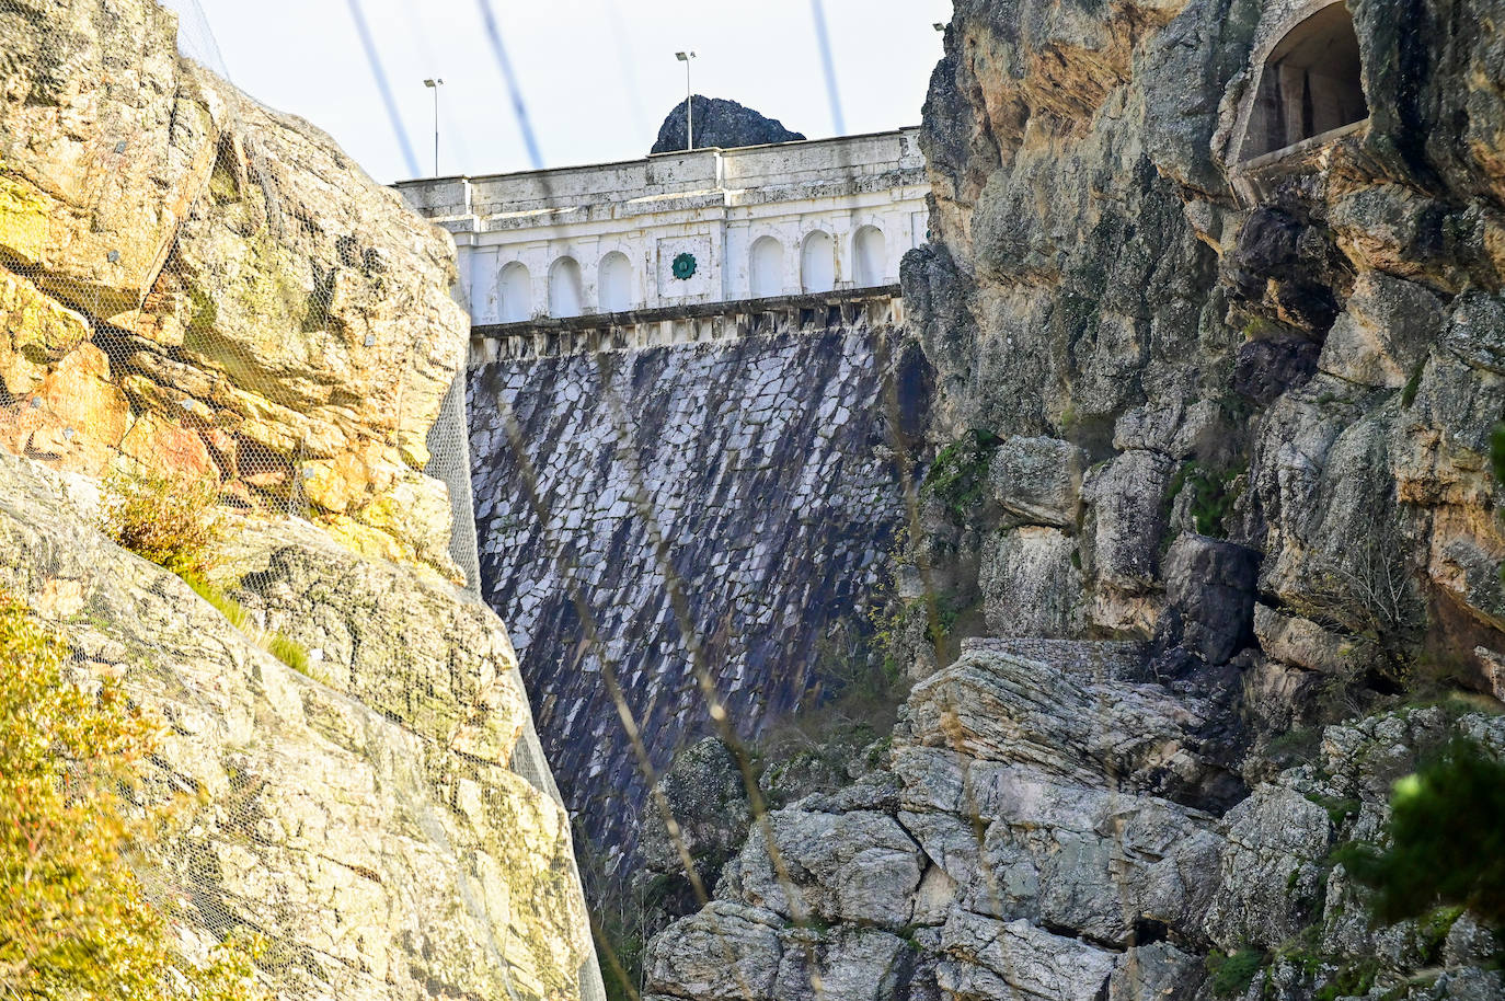
[[(1204, 960), (1216, 950), (1261, 953), (1237, 990), (1249, 999), (1311, 998), (1354, 969), (1376, 996), (1505, 990), (1473, 918), (1373, 926), (1333, 855), (1376, 838), (1391, 781), (1449, 738), (1505, 753), (1505, 717), (1329, 727), (1309, 763), (1219, 817), (1186, 805), (1209, 799), (1186, 786), (1183, 802), (1163, 795), (1166, 760), (1219, 765), (1175, 692), (1126, 676), (1138, 653), (969, 644), (915, 689), (880, 768), (771, 813), (774, 852), (752, 826), (715, 900), (650, 944), (649, 996), (1192, 1001), (1228, 996)], [(1127, 704), (1063, 688), (1082, 677)], [(1043, 703), (1054, 732), (1020, 739)]]

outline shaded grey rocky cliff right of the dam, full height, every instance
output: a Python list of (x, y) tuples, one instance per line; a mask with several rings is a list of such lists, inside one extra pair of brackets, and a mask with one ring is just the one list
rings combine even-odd
[(1505, 9), (954, 8), (917, 685), (647, 992), (1500, 996), (1482, 918), (1373, 918), (1335, 849), (1446, 741), (1502, 751)]

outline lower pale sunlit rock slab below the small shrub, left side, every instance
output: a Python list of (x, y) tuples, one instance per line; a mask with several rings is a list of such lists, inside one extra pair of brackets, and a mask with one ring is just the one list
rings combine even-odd
[(147, 795), (199, 805), (144, 872), (178, 933), (262, 933), (287, 996), (578, 996), (569, 817), (509, 768), (527, 706), (495, 616), (312, 527), (238, 522), (223, 566), (259, 583), (236, 593), (319, 652), (321, 683), (104, 539), (96, 503), (0, 453), (0, 587), (170, 723)]

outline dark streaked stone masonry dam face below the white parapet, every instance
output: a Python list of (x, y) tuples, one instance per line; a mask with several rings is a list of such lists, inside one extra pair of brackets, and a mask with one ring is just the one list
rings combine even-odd
[(710, 727), (670, 575), (743, 736), (801, 703), (825, 637), (879, 584), (923, 382), (885, 387), (900, 343), (847, 324), (471, 369), (482, 590), (597, 844), (632, 852), (652, 808), (604, 661), (656, 769)]

